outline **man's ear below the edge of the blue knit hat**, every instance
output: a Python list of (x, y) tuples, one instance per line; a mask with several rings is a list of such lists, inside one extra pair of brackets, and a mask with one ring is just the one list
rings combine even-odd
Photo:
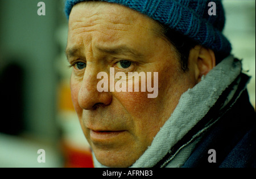
[(196, 45), (189, 53), (189, 61), (195, 68), (195, 80), (201, 81), (202, 76), (207, 75), (216, 66), (216, 59), (213, 50)]

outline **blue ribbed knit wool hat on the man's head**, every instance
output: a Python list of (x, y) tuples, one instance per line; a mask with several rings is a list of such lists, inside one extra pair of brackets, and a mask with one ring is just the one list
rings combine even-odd
[[(72, 7), (79, 2), (89, 0), (67, 0), (65, 14), (69, 18)], [(95, 1), (95, 0), (94, 0)], [(200, 45), (214, 52), (228, 55), (231, 51), (230, 42), (222, 35), (225, 24), (224, 8), (221, 0), (99, 0), (130, 7), (146, 14), (150, 18), (168, 25), (181, 34), (190, 37)], [(216, 15), (208, 11), (214, 2)]]

